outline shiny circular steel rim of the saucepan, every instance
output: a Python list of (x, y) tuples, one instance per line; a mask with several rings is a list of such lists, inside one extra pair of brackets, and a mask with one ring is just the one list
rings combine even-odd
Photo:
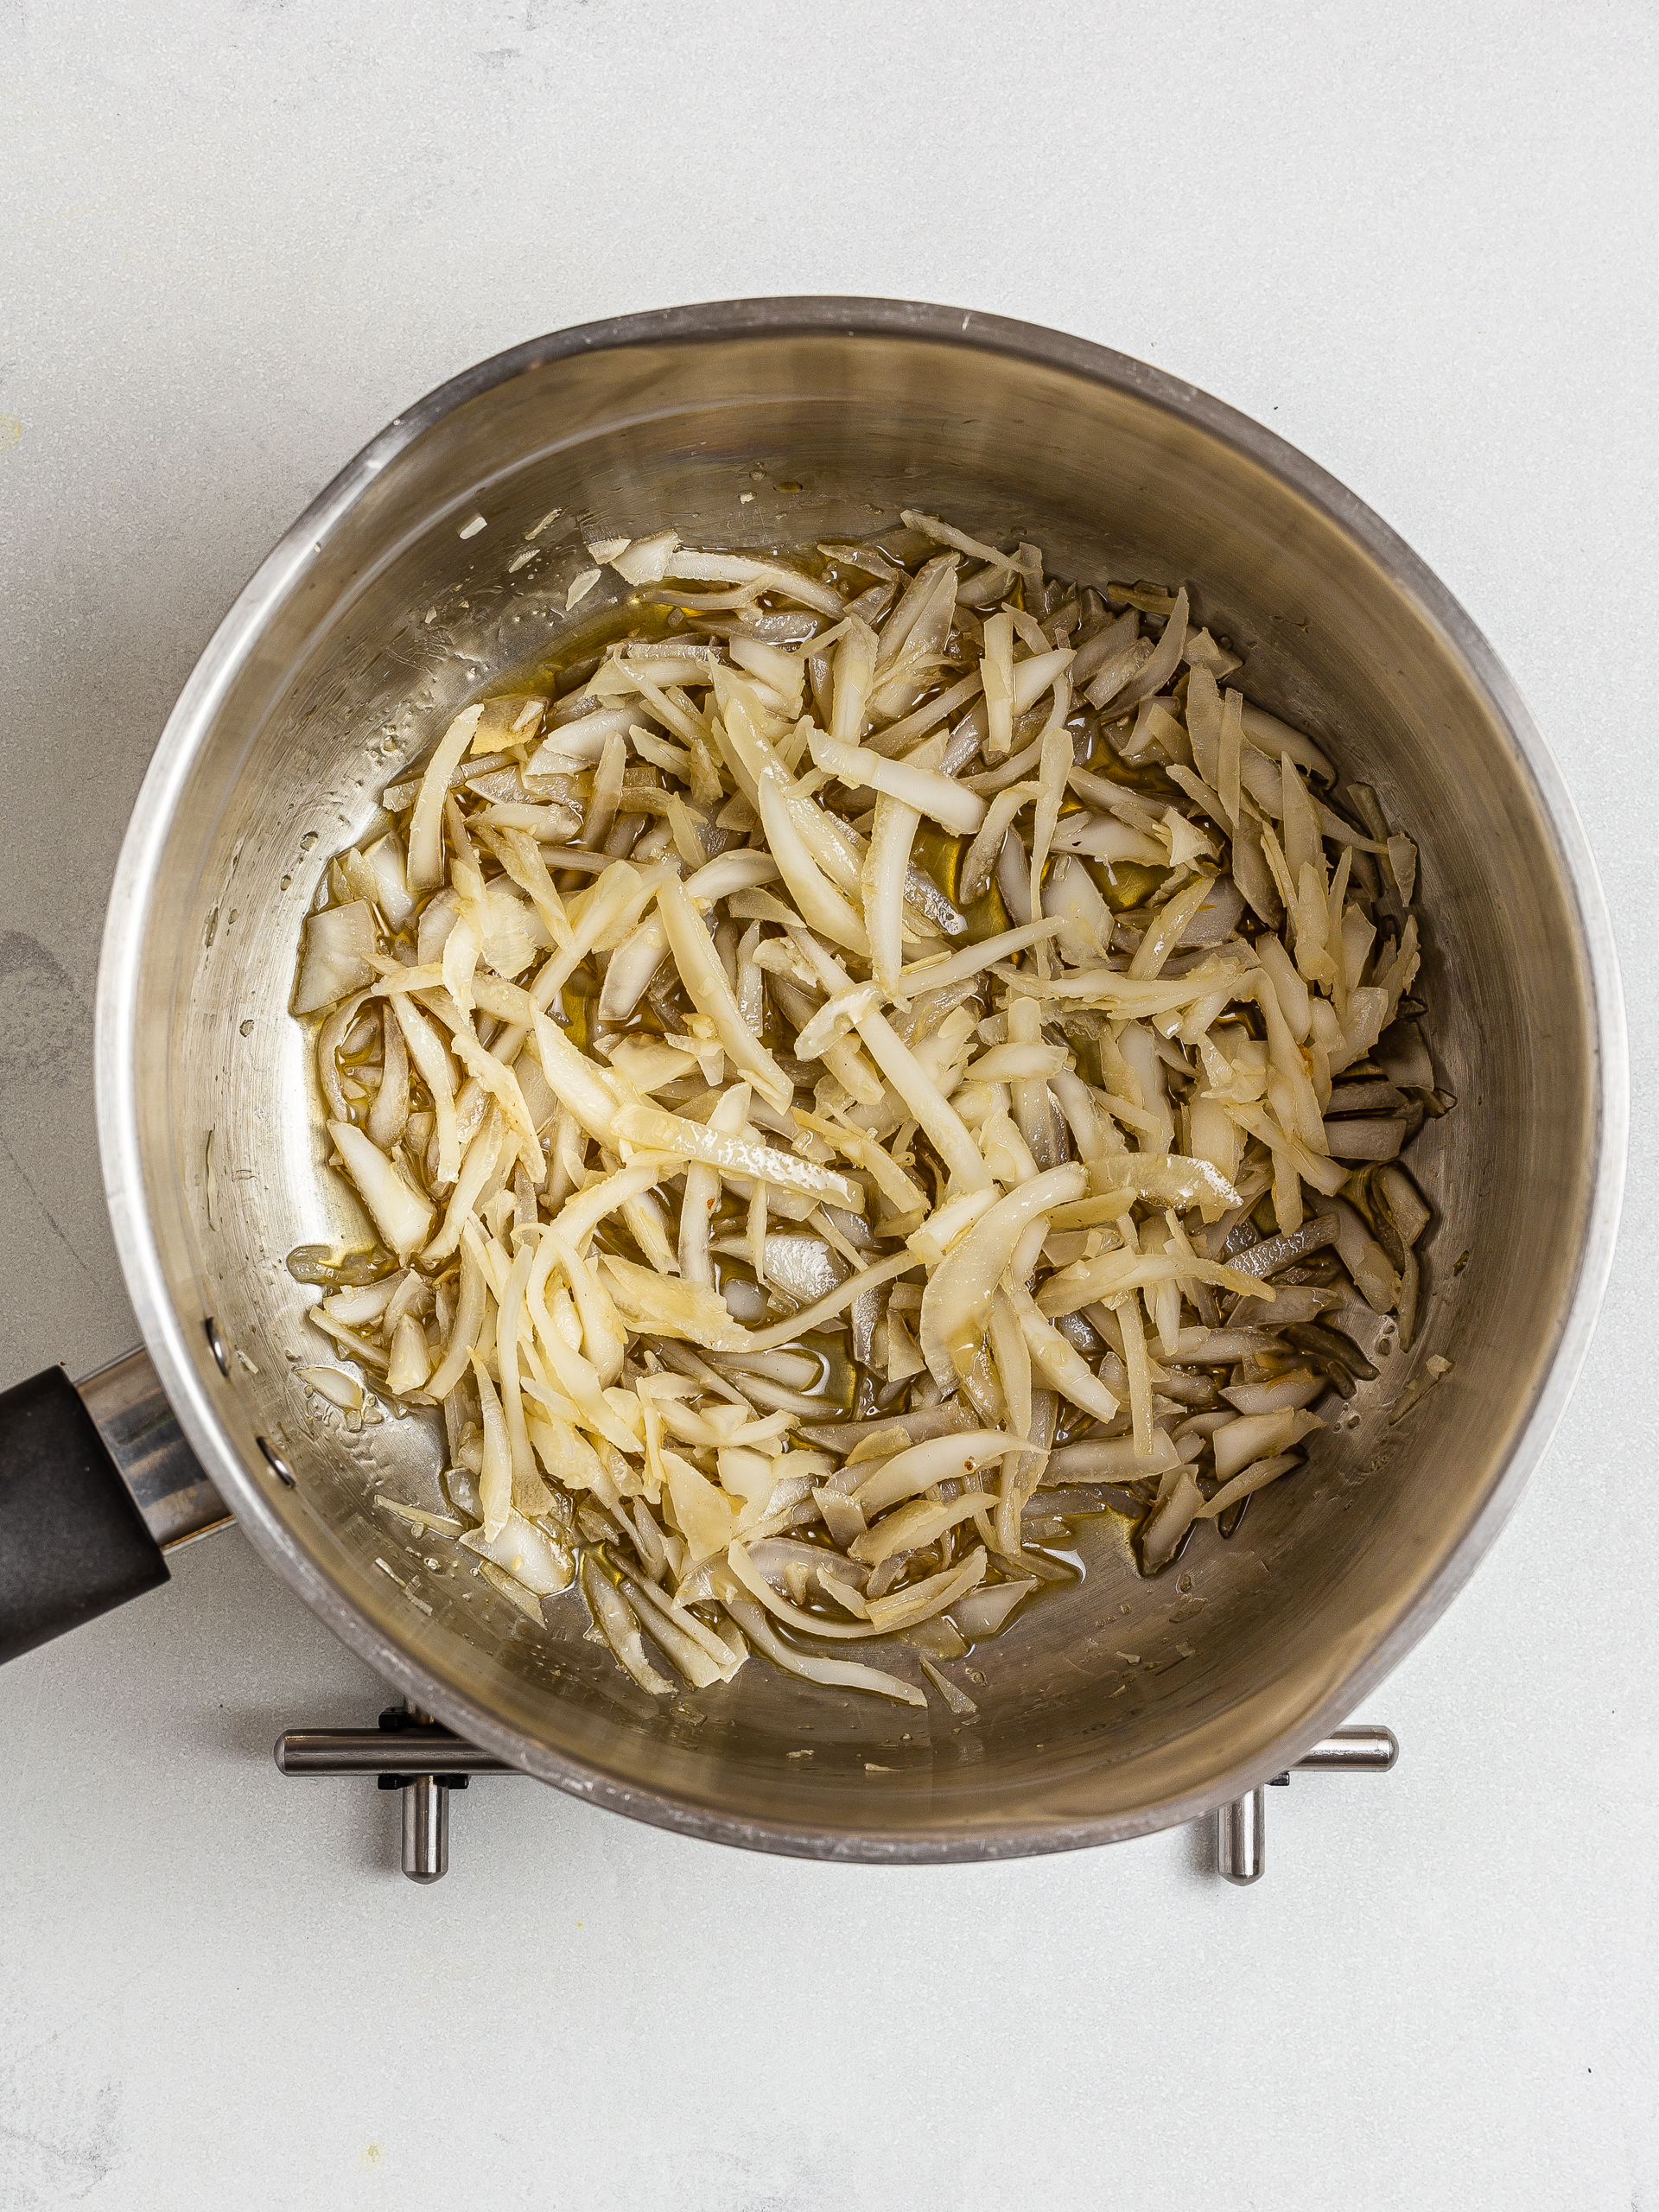
[[(1217, 1774), (1210, 1785), (1181, 1798), (1139, 1807), (1135, 1814), (1040, 1823), (1018, 1818), (971, 1834), (818, 1827), (776, 1818), (743, 1818), (666, 1790), (644, 1790), (617, 1781), (597, 1765), (553, 1752), (515, 1730), (489, 1705), (456, 1690), (411, 1650), (392, 1641), (334, 1582), (294, 1531), (272, 1511), (263, 1475), (254, 1473), (212, 1400), (195, 1345), (186, 1334), (161, 1265), (161, 1252), (144, 1197), (144, 1152), (137, 1113), (135, 1024), (148, 896), (159, 880), (164, 849), (192, 765), (239, 670), (257, 650), (272, 608), (303, 582), (349, 509), (374, 480), (425, 431), (480, 394), (553, 361), (648, 345), (695, 345), (732, 338), (847, 336), (916, 338), (931, 345), (967, 347), (1013, 356), (1035, 367), (1057, 369), (1130, 394), (1197, 425), (1223, 447), (1232, 447), (1259, 469), (1279, 478), (1301, 500), (1336, 524), (1407, 593), (1422, 617), (1442, 635), (1471, 688), (1511, 737), (1531, 779), (1540, 812), (1555, 836), (1579, 929), (1579, 953), (1588, 975), (1590, 1051), (1595, 1106), (1595, 1175), (1584, 1223), (1577, 1274), (1566, 1296), (1555, 1356), (1551, 1358), (1517, 1431), (1515, 1447), (1458, 1546), (1389, 1632), (1329, 1690), (1318, 1710), (1285, 1734), (1265, 1756)], [(1624, 1000), (1613, 945), (1613, 927), (1577, 810), (1509, 672), (1471, 617), (1418, 555), (1347, 487), (1305, 453), (1248, 416), (1164, 369), (1093, 345), (1064, 332), (960, 307), (885, 299), (743, 299), (690, 307), (666, 307), (604, 323), (584, 323), (531, 338), (504, 354), (480, 361), (396, 416), (378, 438), (341, 469), (294, 526), (279, 540), (241, 591), (208, 648), (197, 661), (168, 717), (144, 779), (111, 891), (104, 951), (97, 978), (97, 1124), (104, 1186), (126, 1287), (144, 1340), (166, 1394), (197, 1458), (232, 1506), (265, 1562), (299, 1597), (378, 1674), (396, 1683), (411, 1703), (513, 1765), (555, 1783), (575, 1796), (624, 1812), (637, 1820), (745, 1849), (801, 1858), (869, 1860), (918, 1865), (942, 1860), (1018, 1858), (1066, 1851), (1095, 1843), (1172, 1827), (1212, 1809), (1274, 1772), (1294, 1763), (1405, 1657), (1444, 1613), (1484, 1557), (1513, 1509), (1526, 1478), (1566, 1409), (1597, 1310), (1606, 1292), (1624, 1186), (1628, 1133), (1628, 1064)]]

